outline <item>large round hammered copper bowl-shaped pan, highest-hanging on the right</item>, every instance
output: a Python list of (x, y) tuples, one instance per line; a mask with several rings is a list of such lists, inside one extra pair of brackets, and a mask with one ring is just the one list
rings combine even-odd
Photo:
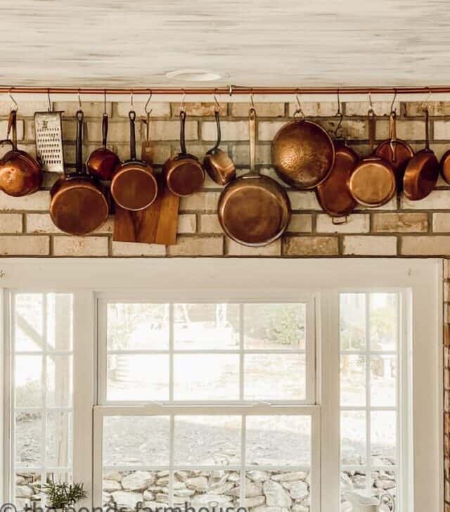
[[(297, 114), (302, 112), (297, 110)], [(315, 188), (328, 176), (335, 161), (330, 135), (315, 122), (296, 118), (278, 130), (272, 142), (272, 164), (290, 186)]]

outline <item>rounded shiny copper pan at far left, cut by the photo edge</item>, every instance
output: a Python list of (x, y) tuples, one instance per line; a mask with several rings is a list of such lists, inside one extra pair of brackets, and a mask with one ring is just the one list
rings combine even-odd
[[(27, 196), (39, 189), (42, 182), (42, 169), (37, 160), (17, 148), (17, 111), (11, 110), (8, 120), (7, 139), (0, 145), (9, 144), (11, 150), (0, 159), (0, 190), (8, 196)], [(9, 135), (13, 131), (13, 140)]]

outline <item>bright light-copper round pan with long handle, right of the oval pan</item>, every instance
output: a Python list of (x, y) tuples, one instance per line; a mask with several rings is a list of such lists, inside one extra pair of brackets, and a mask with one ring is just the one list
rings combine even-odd
[(356, 203), (374, 208), (385, 205), (396, 191), (394, 168), (390, 162), (373, 154), (376, 115), (368, 110), (368, 136), (371, 155), (356, 164), (349, 178), (348, 187)]

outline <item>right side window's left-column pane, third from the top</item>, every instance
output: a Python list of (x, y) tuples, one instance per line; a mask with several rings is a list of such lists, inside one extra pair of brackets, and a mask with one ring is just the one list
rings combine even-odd
[(366, 411), (340, 414), (341, 462), (344, 466), (366, 463)]

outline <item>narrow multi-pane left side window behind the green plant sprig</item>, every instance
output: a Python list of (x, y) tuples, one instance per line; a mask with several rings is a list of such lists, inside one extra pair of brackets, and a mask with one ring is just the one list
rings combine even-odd
[(11, 492), (21, 507), (39, 501), (39, 484), (72, 478), (72, 299), (11, 294)]

